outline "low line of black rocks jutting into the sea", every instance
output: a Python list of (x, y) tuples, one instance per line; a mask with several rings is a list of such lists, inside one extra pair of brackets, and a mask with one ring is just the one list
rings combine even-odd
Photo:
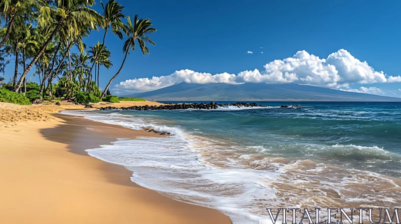
[(247, 103), (247, 102), (233, 102), (233, 103), (224, 103), (224, 104), (218, 104), (216, 102), (210, 102), (210, 103), (168, 103), (165, 105), (159, 105), (159, 106), (149, 106), (149, 105), (144, 105), (144, 106), (128, 106), (128, 107), (115, 107), (115, 106), (106, 106), (106, 107), (99, 107), (100, 110), (108, 110), (108, 109), (122, 109), (122, 110), (173, 110), (173, 109), (217, 109), (219, 107), (229, 107), (229, 106), (236, 106), (236, 107), (267, 107), (261, 104), (257, 104), (255, 102), (253, 103)]

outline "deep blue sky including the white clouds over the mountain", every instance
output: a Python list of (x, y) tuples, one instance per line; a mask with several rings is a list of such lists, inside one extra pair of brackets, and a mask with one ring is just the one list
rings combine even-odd
[[(96, 2), (94, 9), (101, 12)], [(156, 45), (148, 46), (149, 55), (140, 50), (128, 55), (111, 93), (180, 81), (295, 82), (401, 97), (401, 1), (117, 2), (126, 15), (150, 18), (157, 31), (150, 35)], [(94, 45), (103, 34), (93, 31), (84, 42)], [(105, 45), (113, 67), (101, 68), (101, 87), (124, 57), (123, 40), (111, 32)], [(12, 73), (13, 65), (8, 70)]]

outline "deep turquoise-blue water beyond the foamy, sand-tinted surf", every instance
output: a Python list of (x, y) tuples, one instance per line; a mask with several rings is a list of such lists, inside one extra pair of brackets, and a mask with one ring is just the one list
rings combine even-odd
[[(121, 113), (174, 121), (185, 131), (233, 145), (259, 146), (271, 156), (313, 159), (401, 176), (400, 102), (260, 104), (273, 108)], [(283, 104), (302, 107), (276, 107)]]

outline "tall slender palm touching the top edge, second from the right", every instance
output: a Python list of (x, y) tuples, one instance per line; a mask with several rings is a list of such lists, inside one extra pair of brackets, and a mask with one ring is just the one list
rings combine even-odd
[[(103, 7), (103, 17), (104, 17), (104, 22), (105, 22), (103, 42), (102, 42), (102, 46), (104, 46), (106, 34), (110, 27), (115, 35), (117, 35), (120, 39), (123, 38), (122, 32), (126, 32), (127, 27), (121, 21), (121, 19), (125, 18), (126, 16), (121, 13), (121, 11), (122, 11), (122, 9), (124, 9), (124, 7), (121, 4), (117, 3), (115, 0), (109, 0), (109, 2), (107, 2), (106, 6), (103, 5), (102, 1), (100, 1), (100, 3), (102, 4), (102, 7)], [(99, 50), (99, 52), (100, 51), (101, 50)], [(89, 70), (89, 73), (92, 73), (93, 66), (96, 63), (98, 56), (99, 55), (96, 54), (95, 59), (92, 61), (93, 63), (92, 63), (91, 69)], [(95, 67), (95, 69), (96, 69), (96, 67)], [(95, 72), (95, 76), (96, 76), (96, 72)], [(88, 85), (89, 85), (89, 80), (90, 79), (88, 79)]]

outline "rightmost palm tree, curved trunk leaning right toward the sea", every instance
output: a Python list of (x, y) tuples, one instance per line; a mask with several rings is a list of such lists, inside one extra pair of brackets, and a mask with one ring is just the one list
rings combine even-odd
[(130, 17), (128, 17), (128, 26), (127, 26), (128, 29), (127, 29), (126, 34), (129, 37), (124, 42), (124, 46), (123, 46), (123, 52), (125, 52), (124, 60), (122, 61), (120, 69), (117, 71), (117, 73), (110, 79), (109, 83), (106, 85), (106, 88), (104, 89), (100, 98), (103, 98), (103, 96), (106, 94), (107, 89), (109, 88), (111, 82), (121, 72), (122, 67), (124, 66), (125, 59), (127, 58), (129, 49), (131, 49), (132, 51), (135, 51), (135, 40), (138, 41), (139, 47), (142, 51), (142, 54), (143, 55), (145, 55), (145, 53), (149, 54), (149, 49), (145, 46), (145, 42), (148, 42), (152, 45), (155, 45), (155, 43), (147, 35), (156, 31), (155, 28), (150, 27), (151, 25), (152, 25), (152, 23), (150, 23), (150, 19), (148, 19), (148, 18), (138, 19), (138, 14), (135, 15), (133, 24), (131, 23)]

